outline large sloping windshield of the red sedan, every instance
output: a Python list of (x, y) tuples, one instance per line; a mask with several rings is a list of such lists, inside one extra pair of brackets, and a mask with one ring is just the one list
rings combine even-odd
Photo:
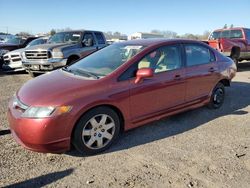
[(87, 77), (94, 77), (93, 75), (95, 77), (104, 77), (130, 60), (144, 48), (145, 46), (141, 45), (113, 44), (69, 66), (67, 71), (82, 76), (88, 74)]

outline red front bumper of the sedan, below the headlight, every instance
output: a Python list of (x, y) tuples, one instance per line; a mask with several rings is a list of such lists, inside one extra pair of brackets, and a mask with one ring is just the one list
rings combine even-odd
[(23, 147), (42, 153), (62, 153), (70, 149), (70, 135), (67, 130), (70, 118), (66, 114), (42, 119), (21, 117), (22, 112), (8, 108), (8, 122), (14, 139)]

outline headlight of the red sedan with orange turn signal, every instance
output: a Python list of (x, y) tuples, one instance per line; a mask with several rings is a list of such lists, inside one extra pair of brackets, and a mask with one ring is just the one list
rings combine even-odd
[(22, 117), (26, 118), (46, 118), (54, 115), (61, 115), (70, 112), (71, 106), (59, 106), (59, 107), (35, 107), (31, 106), (22, 114)]

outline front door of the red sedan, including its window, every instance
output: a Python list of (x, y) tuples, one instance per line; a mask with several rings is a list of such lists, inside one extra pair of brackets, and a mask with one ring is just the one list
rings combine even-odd
[(132, 122), (160, 115), (185, 102), (185, 71), (181, 48), (163, 46), (146, 55), (137, 68), (152, 68), (154, 76), (135, 84), (130, 82), (130, 115)]

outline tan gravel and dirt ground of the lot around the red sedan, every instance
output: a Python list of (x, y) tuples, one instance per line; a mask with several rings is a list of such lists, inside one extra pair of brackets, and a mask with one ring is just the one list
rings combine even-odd
[(240, 66), (221, 109), (203, 107), (129, 131), (96, 156), (35, 153), (13, 140), (7, 103), (28, 79), (0, 73), (0, 187), (250, 185), (250, 62)]

